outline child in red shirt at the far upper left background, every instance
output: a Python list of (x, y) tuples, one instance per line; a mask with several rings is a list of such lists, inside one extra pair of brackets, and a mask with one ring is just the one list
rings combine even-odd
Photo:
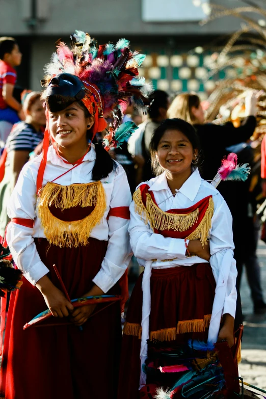
[(12, 37), (0, 38), (0, 121), (17, 123), (22, 105), (13, 97), (17, 73), (14, 67), (20, 65), (22, 54)]

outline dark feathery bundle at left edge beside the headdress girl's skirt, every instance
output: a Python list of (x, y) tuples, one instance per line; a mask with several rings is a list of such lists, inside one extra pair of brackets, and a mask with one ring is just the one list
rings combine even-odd
[(0, 297), (22, 285), (22, 272), (13, 268), (11, 260), (9, 248), (3, 246), (0, 236)]

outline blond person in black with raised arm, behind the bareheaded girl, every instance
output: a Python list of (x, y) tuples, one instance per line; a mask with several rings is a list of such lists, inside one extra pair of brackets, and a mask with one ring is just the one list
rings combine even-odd
[[(253, 135), (256, 127), (256, 103), (257, 93), (247, 91), (245, 99), (246, 118), (240, 127), (234, 127), (231, 122), (224, 125), (204, 123), (204, 111), (200, 99), (195, 94), (179, 94), (173, 100), (169, 111), (169, 118), (181, 118), (192, 123), (198, 133), (203, 151), (203, 162), (200, 173), (203, 179), (211, 180), (221, 166), (221, 159), (228, 152), (235, 152), (228, 148), (237, 144), (243, 144)], [(248, 153), (245, 151), (244, 156)], [(240, 154), (238, 154), (240, 156)], [(250, 162), (250, 157), (241, 158), (241, 162)], [(240, 287), (243, 264), (249, 268), (248, 282), (254, 305), (254, 313), (266, 312), (266, 304), (263, 301), (259, 267), (254, 259), (254, 242), (256, 229), (249, 212), (249, 181), (221, 182), (219, 191), (224, 197), (233, 217), (234, 257), (238, 270), (237, 287)], [(241, 199), (241, 200), (240, 200)], [(247, 228), (247, 226), (249, 226)], [(245, 234), (243, 234), (245, 232)], [(253, 261), (251, 260), (253, 259)], [(240, 298), (238, 296), (238, 298)]]

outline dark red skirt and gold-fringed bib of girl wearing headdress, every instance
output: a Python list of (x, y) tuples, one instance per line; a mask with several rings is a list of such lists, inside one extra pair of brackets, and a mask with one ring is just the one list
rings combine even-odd
[[(53, 264), (71, 299), (93, 285), (108, 242), (89, 237), (106, 209), (101, 182), (62, 186), (47, 183), (38, 205), (46, 238), (35, 238), (48, 277), (62, 289)], [(117, 283), (108, 294), (120, 294)], [(97, 310), (102, 305), (97, 305)], [(78, 327), (68, 318), (56, 326), (23, 330), (47, 309), (41, 292), (23, 278), (12, 292), (1, 367), (1, 394), (6, 399), (117, 398), (121, 318), (116, 302)], [(104, 380), (103, 377), (104, 376)], [(0, 395), (1, 396), (1, 395)]]

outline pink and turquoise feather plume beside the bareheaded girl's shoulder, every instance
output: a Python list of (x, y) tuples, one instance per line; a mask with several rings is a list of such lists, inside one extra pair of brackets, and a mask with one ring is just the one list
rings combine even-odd
[(237, 165), (237, 155), (231, 152), (227, 158), (222, 160), (222, 166), (218, 169), (218, 173), (211, 181), (211, 185), (215, 187), (223, 180), (246, 181), (250, 174), (251, 168), (248, 164)]

